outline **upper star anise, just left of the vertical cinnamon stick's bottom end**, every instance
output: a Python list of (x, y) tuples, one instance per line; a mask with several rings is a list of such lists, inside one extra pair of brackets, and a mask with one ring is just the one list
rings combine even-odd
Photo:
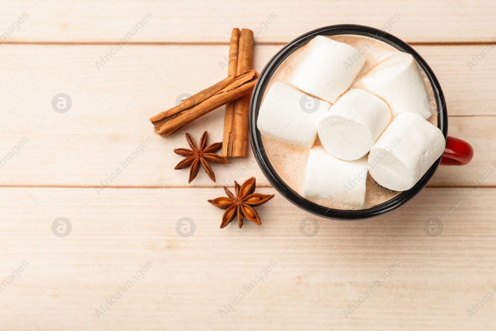
[(215, 174), (210, 168), (208, 162), (225, 164), (231, 163), (225, 157), (220, 156), (219, 154), (215, 154), (214, 152), (219, 150), (222, 147), (222, 142), (215, 142), (209, 146), (207, 146), (207, 132), (203, 132), (200, 138), (200, 147), (196, 146), (193, 138), (189, 133), (186, 133), (186, 140), (191, 147), (191, 149), (187, 148), (176, 148), (174, 149), (174, 153), (185, 156), (186, 158), (179, 162), (174, 169), (184, 169), (189, 167), (189, 180), (188, 184), (198, 175), (198, 170), (200, 169), (200, 164), (205, 169), (208, 177), (215, 182)]

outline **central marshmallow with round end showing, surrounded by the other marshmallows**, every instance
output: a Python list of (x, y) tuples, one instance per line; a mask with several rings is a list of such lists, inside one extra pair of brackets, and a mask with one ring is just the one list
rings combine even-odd
[(387, 104), (362, 89), (346, 92), (322, 117), (317, 132), (322, 146), (346, 161), (367, 154), (391, 120)]

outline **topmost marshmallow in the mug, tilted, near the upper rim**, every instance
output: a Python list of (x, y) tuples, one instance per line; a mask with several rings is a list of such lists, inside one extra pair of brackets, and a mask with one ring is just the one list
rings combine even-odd
[(310, 40), (289, 82), (308, 94), (335, 103), (353, 83), (365, 60), (365, 52), (316, 36)]

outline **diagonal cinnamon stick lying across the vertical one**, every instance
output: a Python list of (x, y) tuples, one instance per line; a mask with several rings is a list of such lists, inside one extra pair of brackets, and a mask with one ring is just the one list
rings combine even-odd
[(228, 76), (180, 105), (155, 115), (150, 119), (155, 133), (166, 137), (212, 110), (244, 96), (253, 89), (257, 78), (258, 73), (254, 70)]

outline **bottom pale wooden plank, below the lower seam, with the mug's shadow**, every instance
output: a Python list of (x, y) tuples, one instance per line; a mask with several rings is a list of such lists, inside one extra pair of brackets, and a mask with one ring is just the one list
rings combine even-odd
[[(222, 210), (206, 202), (218, 194), (217, 189), (109, 189), (95, 197), (92, 189), (1, 188), (0, 281), (23, 261), (29, 265), (4, 285), (0, 328), (496, 328), (494, 300), (472, 319), (467, 314), (478, 299), (495, 293), (495, 189), (465, 199), (464, 189), (428, 188), (368, 221), (315, 217), (320, 232), (313, 238), (300, 232), (311, 215), (279, 196), (258, 207), (262, 226), (247, 221), (242, 229), (230, 224), (221, 230)], [(52, 233), (57, 217), (72, 224), (65, 238)], [(189, 238), (176, 232), (182, 217), (196, 224)], [(444, 224), (438, 238), (424, 232), (430, 217)], [(147, 261), (153, 266), (124, 293), (120, 286)], [(248, 293), (244, 286), (271, 261), (277, 266)], [(395, 262), (401, 266), (392, 279), (372, 293), (368, 286), (384, 273), (389, 277)], [(122, 298), (98, 319), (95, 310), (118, 291)], [(346, 319), (343, 310), (365, 291), (371, 297)], [(226, 311), (224, 305), (240, 292), (246, 298), (231, 305), (223, 319), (219, 310)]]

